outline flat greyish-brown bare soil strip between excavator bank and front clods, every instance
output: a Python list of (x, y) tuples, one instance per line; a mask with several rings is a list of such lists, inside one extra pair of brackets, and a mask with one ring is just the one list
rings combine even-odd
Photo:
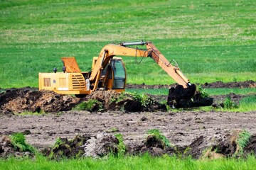
[(181, 112), (143, 112), (143, 113), (90, 113), (87, 111), (68, 111), (60, 115), (1, 115), (0, 134), (29, 130), (26, 135), (29, 144), (43, 149), (55, 143), (58, 137), (69, 140), (76, 135), (96, 136), (100, 132), (121, 133), (124, 144), (136, 148), (146, 140), (146, 132), (159, 129), (172, 145), (186, 147), (203, 137), (196, 144), (203, 149), (214, 145), (215, 140), (225, 140), (225, 135), (234, 130), (248, 130), (256, 134), (256, 111), (250, 113), (226, 113), (204, 111)]

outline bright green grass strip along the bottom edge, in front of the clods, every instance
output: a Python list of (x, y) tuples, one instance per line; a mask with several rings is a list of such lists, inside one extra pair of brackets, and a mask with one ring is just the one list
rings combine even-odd
[(256, 159), (194, 160), (190, 157), (110, 157), (108, 159), (65, 159), (59, 162), (44, 157), (32, 159), (0, 159), (1, 169), (255, 169)]

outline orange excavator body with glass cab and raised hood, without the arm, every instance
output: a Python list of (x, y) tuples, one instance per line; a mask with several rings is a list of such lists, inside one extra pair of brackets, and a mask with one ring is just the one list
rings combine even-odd
[[(92, 69), (95, 67), (98, 57), (93, 57)], [(90, 72), (80, 72), (75, 57), (62, 57), (65, 72), (39, 73), (39, 90), (55, 91), (58, 94), (90, 94), (95, 89), (114, 89), (122, 92), (126, 85), (126, 69), (120, 57), (113, 57), (100, 74), (100, 79), (90, 83)], [(96, 88), (97, 86), (97, 88)]]

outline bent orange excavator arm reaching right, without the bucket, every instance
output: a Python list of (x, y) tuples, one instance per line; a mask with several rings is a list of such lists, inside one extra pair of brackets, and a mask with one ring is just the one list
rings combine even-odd
[[(138, 47), (131, 47), (134, 45), (144, 45), (146, 50)], [(189, 80), (183, 75), (176, 64), (173, 66), (164, 55), (156, 48), (152, 42), (121, 42), (119, 44), (109, 44), (102, 48), (100, 55), (95, 63), (95, 67), (90, 74), (90, 81), (97, 81), (100, 78), (102, 69), (114, 56), (132, 56), (132, 57), (151, 57), (164, 71), (169, 74), (178, 84), (184, 88), (191, 86)]]

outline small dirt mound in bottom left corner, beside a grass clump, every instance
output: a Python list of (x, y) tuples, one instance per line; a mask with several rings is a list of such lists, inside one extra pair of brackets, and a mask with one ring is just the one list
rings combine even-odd
[(3, 135), (0, 139), (0, 158), (8, 157), (33, 157), (31, 152), (22, 152), (11, 144), (11, 138)]

